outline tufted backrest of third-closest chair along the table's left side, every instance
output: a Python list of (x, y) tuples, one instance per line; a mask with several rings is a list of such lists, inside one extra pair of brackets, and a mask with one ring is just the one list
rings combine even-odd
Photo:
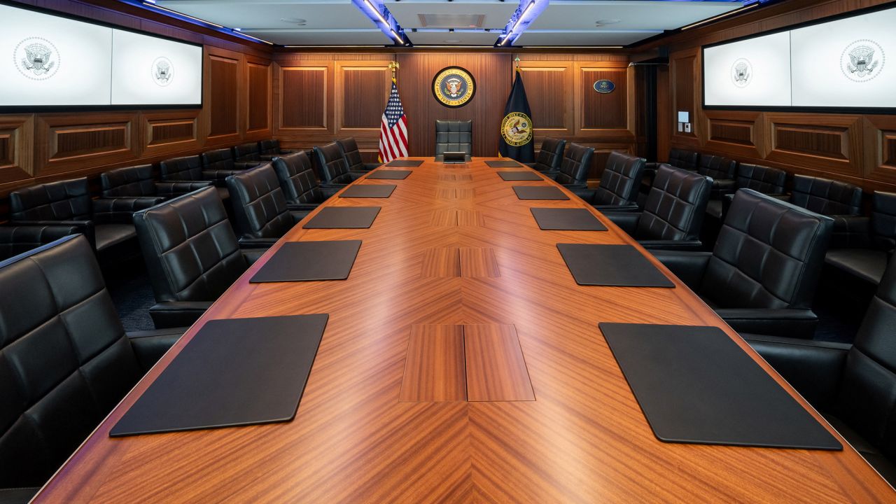
[(227, 178), (239, 238), (280, 238), (295, 223), (271, 163)]

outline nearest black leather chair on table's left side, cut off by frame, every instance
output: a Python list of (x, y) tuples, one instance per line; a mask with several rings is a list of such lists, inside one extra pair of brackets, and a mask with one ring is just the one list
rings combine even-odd
[(90, 244), (0, 262), (0, 501), (27, 502), (184, 328), (125, 333)]

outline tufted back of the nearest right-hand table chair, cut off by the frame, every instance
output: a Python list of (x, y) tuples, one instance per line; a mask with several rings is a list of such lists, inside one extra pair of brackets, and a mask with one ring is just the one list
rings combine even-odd
[(890, 261), (849, 349), (835, 407), (884, 456), (896, 456), (896, 261)]

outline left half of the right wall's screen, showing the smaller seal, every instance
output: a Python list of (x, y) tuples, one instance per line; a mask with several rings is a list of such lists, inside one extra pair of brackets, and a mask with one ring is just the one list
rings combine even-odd
[(790, 105), (790, 34), (775, 33), (703, 51), (706, 105)]

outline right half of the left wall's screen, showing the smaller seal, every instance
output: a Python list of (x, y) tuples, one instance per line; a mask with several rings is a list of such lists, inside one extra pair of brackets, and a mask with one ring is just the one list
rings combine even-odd
[(112, 31), (112, 105), (202, 102), (202, 48)]

